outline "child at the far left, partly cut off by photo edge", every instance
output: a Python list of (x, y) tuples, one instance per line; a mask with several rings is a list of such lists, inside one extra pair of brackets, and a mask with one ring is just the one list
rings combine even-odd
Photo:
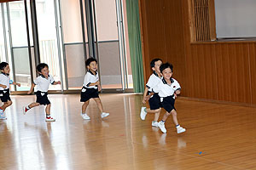
[(0, 119), (6, 119), (3, 112), (7, 107), (12, 105), (12, 100), (9, 98), (9, 84), (14, 84), (20, 86), (20, 83), (12, 82), (9, 80), (9, 64), (6, 62), (0, 63), (0, 99), (3, 102), (2, 107), (0, 107)]

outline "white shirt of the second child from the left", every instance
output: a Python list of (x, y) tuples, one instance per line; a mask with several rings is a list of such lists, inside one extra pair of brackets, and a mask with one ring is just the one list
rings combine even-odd
[(53, 84), (55, 82), (54, 78), (50, 75), (48, 75), (48, 78), (44, 77), (43, 75), (40, 75), (34, 80), (34, 84), (36, 86), (36, 92), (47, 92), (49, 88), (49, 84)]

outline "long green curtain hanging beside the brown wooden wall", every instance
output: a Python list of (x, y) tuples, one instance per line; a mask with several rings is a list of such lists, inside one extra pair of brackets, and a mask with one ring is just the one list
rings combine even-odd
[(126, 0), (133, 89), (143, 93), (143, 54), (138, 0)]

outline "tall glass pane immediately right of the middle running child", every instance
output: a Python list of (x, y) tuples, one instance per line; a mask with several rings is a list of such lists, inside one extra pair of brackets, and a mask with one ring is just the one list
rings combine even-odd
[(95, 5), (102, 88), (122, 88), (115, 0), (96, 0)]

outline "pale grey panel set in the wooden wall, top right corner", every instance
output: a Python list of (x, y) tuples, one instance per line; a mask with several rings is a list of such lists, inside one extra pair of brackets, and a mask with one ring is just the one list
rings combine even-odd
[(256, 37), (255, 0), (215, 0), (217, 37)]

